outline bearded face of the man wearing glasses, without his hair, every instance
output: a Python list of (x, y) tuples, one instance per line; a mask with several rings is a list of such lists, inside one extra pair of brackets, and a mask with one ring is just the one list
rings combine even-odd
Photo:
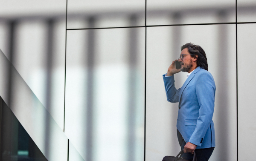
[(180, 57), (181, 55), (183, 55), (183, 59), (181, 60), (181, 58), (179, 59), (181, 68), (180, 71), (181, 72), (189, 72), (190, 69), (192, 68), (192, 57), (189, 54), (189, 51), (187, 48), (183, 49), (180, 53)]

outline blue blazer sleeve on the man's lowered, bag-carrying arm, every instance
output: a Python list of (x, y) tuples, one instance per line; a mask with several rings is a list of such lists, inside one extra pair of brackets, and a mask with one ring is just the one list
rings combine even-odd
[(209, 72), (199, 75), (195, 91), (199, 104), (199, 117), (195, 131), (191, 135), (189, 142), (201, 146), (204, 136), (212, 121), (215, 101), (215, 82)]

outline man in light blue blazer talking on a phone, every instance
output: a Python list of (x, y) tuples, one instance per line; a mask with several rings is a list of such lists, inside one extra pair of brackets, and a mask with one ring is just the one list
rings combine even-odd
[[(176, 61), (176, 60), (175, 60)], [(167, 100), (179, 102), (177, 136), (184, 150), (182, 158), (192, 161), (193, 153), (198, 161), (208, 161), (215, 147), (215, 131), (212, 121), (215, 101), (215, 82), (208, 72), (206, 54), (201, 46), (186, 43), (181, 47), (180, 69), (175, 61), (163, 75)], [(175, 88), (174, 74), (188, 72), (179, 89)]]

